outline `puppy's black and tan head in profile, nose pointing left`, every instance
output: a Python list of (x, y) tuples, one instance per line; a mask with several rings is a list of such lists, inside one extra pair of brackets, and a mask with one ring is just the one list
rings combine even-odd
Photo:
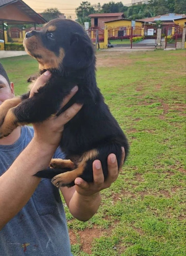
[(94, 62), (94, 48), (83, 27), (73, 20), (56, 18), (40, 31), (26, 33), (25, 50), (39, 62), (40, 70), (80, 70)]

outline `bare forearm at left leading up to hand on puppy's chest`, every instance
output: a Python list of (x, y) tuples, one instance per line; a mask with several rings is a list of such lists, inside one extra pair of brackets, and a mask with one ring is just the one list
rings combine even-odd
[(0, 229), (29, 201), (40, 182), (33, 175), (49, 165), (54, 151), (33, 139), (0, 177)]

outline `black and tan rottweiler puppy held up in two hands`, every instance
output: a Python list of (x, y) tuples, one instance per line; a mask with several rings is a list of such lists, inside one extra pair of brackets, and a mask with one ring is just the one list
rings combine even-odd
[[(86, 31), (72, 20), (57, 18), (40, 31), (27, 32), (24, 47), (39, 62), (40, 75), (50, 70), (52, 77), (32, 98), (28, 93), (0, 106), (0, 137), (8, 136), (18, 125), (42, 122), (75, 102), (81, 103), (79, 113), (65, 124), (60, 141), (69, 160), (52, 159), (52, 168), (36, 176), (51, 178), (57, 187), (71, 187), (77, 177), (92, 182), (92, 162), (99, 159), (106, 179), (107, 156), (114, 153), (121, 166), (121, 147), (127, 156), (129, 146), (97, 87), (95, 51)], [(61, 101), (75, 85), (78, 92), (60, 110)]]

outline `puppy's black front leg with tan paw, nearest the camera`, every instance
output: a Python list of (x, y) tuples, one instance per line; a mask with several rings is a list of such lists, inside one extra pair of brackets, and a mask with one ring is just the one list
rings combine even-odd
[(38, 92), (32, 98), (24, 99), (18, 106), (7, 112), (0, 127), (0, 138), (8, 136), (18, 125), (44, 121), (59, 110), (64, 96), (66, 95), (61, 91), (56, 93), (55, 88), (48, 85), (44, 93)]

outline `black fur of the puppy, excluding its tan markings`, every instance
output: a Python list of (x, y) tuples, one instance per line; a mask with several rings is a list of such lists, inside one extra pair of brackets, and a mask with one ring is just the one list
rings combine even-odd
[[(45, 34), (51, 25), (56, 26), (57, 29), (53, 33), (55, 40), (48, 42)], [(90, 38), (79, 24), (63, 19), (52, 20), (43, 30), (31, 33), (38, 36), (43, 47), (54, 52), (57, 57), (60, 54), (60, 48), (64, 50), (65, 55), (58, 68), (49, 68), (52, 78), (46, 86), (40, 88), (32, 98), (22, 97), (22, 103), (14, 110), (15, 116), (19, 122), (40, 122), (58, 111), (60, 114), (74, 102), (83, 104), (80, 112), (64, 126), (60, 141), (61, 150), (66, 154), (66, 159), (73, 161), (83, 153), (96, 149), (98, 155), (86, 162), (81, 177), (92, 182), (92, 162), (100, 159), (106, 179), (107, 156), (114, 153), (120, 165), (121, 146), (124, 146), (126, 156), (129, 146), (123, 131), (111, 115), (97, 87), (96, 58)], [(32, 35), (29, 34), (29, 36)], [(32, 55), (38, 59), (41, 57), (37, 54)], [(40, 74), (44, 71), (45, 69), (41, 70)], [(76, 84), (79, 88), (78, 92), (60, 111), (60, 103)], [(43, 170), (36, 176), (52, 178), (65, 171)], [(74, 182), (64, 185), (72, 186)]]

